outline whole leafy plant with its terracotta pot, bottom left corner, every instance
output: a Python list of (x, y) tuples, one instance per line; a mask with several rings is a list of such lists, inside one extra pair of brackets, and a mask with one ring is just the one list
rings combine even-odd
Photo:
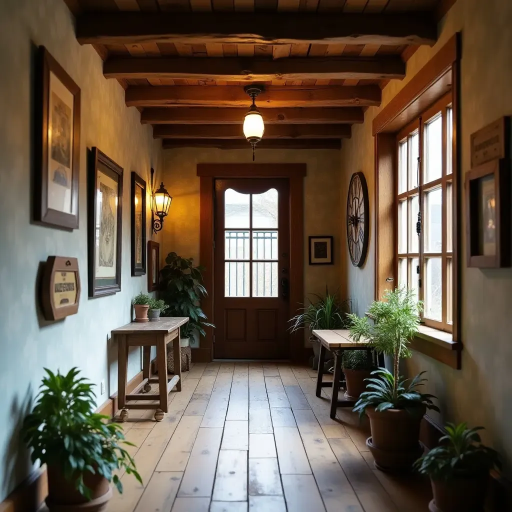
[(122, 445), (121, 426), (105, 423), (95, 414), (94, 386), (78, 378), (45, 369), (32, 412), (25, 418), (22, 434), (32, 448), (32, 461), (46, 464), (50, 512), (99, 512), (112, 497), (110, 482), (119, 493), (123, 487), (115, 470), (125, 470), (142, 483), (132, 457)]

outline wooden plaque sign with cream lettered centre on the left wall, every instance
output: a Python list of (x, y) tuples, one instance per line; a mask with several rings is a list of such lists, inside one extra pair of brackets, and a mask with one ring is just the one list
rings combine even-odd
[(42, 274), (41, 306), (47, 320), (59, 320), (78, 311), (80, 274), (76, 258), (49, 256)]

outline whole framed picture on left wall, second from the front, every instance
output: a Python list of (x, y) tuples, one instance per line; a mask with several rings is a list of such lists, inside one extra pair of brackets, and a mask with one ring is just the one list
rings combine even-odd
[(93, 147), (88, 165), (89, 296), (121, 291), (123, 169)]

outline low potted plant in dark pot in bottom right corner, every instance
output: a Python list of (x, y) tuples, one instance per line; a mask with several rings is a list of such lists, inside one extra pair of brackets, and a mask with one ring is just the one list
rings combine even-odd
[(439, 446), (414, 463), (432, 483), (432, 512), (482, 512), (489, 471), (501, 468), (498, 452), (484, 446), (478, 434), (482, 426), (468, 429), (466, 423), (447, 423)]

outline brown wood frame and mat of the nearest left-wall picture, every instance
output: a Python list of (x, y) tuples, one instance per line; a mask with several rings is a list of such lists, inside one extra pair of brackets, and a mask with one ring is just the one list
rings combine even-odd
[[(72, 112), (72, 136), (71, 139), (66, 141), (65, 136), (61, 136), (63, 144), (57, 147), (55, 144), (54, 150), (58, 151), (61, 158), (66, 159), (66, 153), (69, 158), (69, 167), (65, 164), (60, 164), (54, 169), (54, 187), (59, 188), (62, 185), (68, 187), (67, 183), (71, 185), (71, 205), (70, 211), (63, 211), (52, 208), (49, 204), (49, 130), (51, 128), (50, 122), (50, 93), (51, 90), (51, 75), (54, 75), (62, 86), (69, 91), (73, 96), (73, 112)], [(58, 85), (58, 82), (55, 82)], [(36, 98), (35, 98), (35, 160), (34, 160), (34, 182), (33, 182), (33, 221), (37, 224), (44, 224), (51, 227), (58, 227), (64, 229), (77, 229), (78, 228), (78, 199), (79, 199), (79, 174), (80, 174), (80, 88), (72, 80), (72, 78), (64, 71), (59, 63), (50, 55), (44, 46), (38, 49), (37, 63), (36, 63)], [(69, 120), (70, 105), (57, 97), (60, 101), (61, 109), (54, 112), (57, 118), (54, 122)], [(57, 111), (57, 107), (55, 111)], [(54, 134), (55, 139), (57, 136)], [(69, 146), (66, 148), (66, 142)], [(63, 146), (63, 149), (62, 149)], [(53, 153), (52, 153), (53, 157)], [(58, 158), (58, 157), (54, 157)], [(59, 164), (57, 160), (53, 160)], [(68, 174), (71, 174), (69, 176)], [(69, 187), (68, 187), (69, 188)]]

